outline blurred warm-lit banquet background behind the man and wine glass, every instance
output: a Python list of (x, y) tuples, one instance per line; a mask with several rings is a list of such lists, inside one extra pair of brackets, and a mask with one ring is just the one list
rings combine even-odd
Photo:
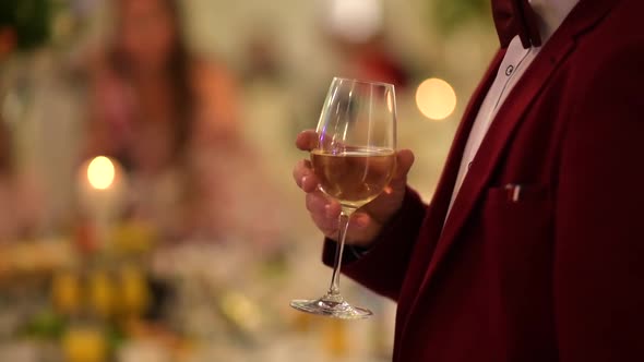
[(324, 292), (291, 180), (335, 75), (396, 85), (429, 200), (498, 47), (487, 0), (2, 0), (0, 361), (389, 361)]

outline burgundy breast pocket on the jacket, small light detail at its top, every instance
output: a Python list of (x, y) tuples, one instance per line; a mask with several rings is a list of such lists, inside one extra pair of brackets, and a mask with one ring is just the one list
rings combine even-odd
[(547, 348), (533, 341), (553, 335), (553, 201), (545, 185), (513, 186), (488, 189), (482, 205), (489, 313), (503, 341), (500, 361), (536, 361), (529, 355)]

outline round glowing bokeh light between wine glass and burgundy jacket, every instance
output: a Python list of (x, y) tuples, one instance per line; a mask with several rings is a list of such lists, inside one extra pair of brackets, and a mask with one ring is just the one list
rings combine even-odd
[(456, 109), (456, 93), (450, 83), (432, 77), (418, 86), (416, 105), (425, 117), (436, 121), (444, 120)]

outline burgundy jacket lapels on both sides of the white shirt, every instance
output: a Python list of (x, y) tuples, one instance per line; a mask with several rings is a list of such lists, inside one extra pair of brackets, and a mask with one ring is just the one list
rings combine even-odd
[[(430, 228), (439, 231), (438, 233), (432, 233), (430, 236), (436, 234), (438, 243), (431, 255), (429, 268), (425, 270), (426, 273), (422, 273), (424, 280), (419, 286), (418, 291), (422, 292), (427, 289), (427, 283), (431, 279), (431, 276), (444, 260), (448, 251), (456, 240), (460, 230), (465, 226), (468, 216), (474, 209), (477, 201), (480, 198), (493, 170), (498, 166), (500, 156), (509, 141), (512, 138), (514, 130), (520, 124), (523, 114), (528, 110), (532, 101), (541, 92), (552, 72), (574, 48), (577, 35), (595, 25), (615, 3), (616, 1), (609, 0), (581, 0), (569, 17), (559, 27), (557, 33), (544, 46), (539, 56), (533, 61), (523, 77), (505, 99), (503, 106), (499, 109), (497, 117), (481, 143), (476, 159), (461, 186), (458, 195), (454, 201), (449, 218), (443, 225), (454, 186), (455, 173), (457, 172), (461, 162), (461, 155), (468, 137), (469, 129), (478, 111), (478, 107), (472, 107), (470, 105), (463, 120), (467, 126), (462, 126), (463, 130), (460, 131), (462, 134), (457, 136), (457, 141), (460, 141), (450, 152), (445, 172), (441, 178), (439, 190), (433, 200), (433, 202), (438, 202), (438, 204), (432, 205), (432, 208), (436, 208), (434, 213), (432, 213), (436, 219), (430, 221)], [(496, 68), (499, 67), (501, 59), (502, 57), (497, 57), (494, 60)], [(487, 84), (487, 87), (481, 87), (481, 89), (486, 92), (480, 92), (481, 89), (479, 89), (479, 94), (476, 95), (477, 100), (474, 102), (475, 105), (480, 106), (480, 102), (482, 101), (482, 98), (485, 98), (487, 89), (494, 76), (496, 72), (491, 72), (490, 74), (488, 71), (488, 74), (486, 75), (487, 79), (484, 82), (484, 84)], [(463, 141), (463, 138), (465, 141)], [(440, 233), (440, 230), (442, 230), (442, 233)], [(416, 295), (415, 301), (412, 303), (412, 310), (418, 302), (419, 297), (420, 293)]]

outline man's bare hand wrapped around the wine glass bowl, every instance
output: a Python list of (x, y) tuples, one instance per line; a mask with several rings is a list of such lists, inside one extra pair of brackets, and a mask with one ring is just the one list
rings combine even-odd
[[(296, 140), (301, 150), (311, 150), (318, 144), (314, 131), (303, 131)], [(396, 154), (396, 170), (389, 186), (375, 200), (360, 207), (353, 216), (347, 234), (347, 243), (368, 246), (382, 231), (403, 204), (407, 172), (414, 164), (414, 154), (409, 149)], [(295, 182), (307, 193), (307, 209), (318, 228), (330, 239), (337, 238), (339, 203), (326, 196), (318, 188), (319, 180), (313, 173), (311, 162), (302, 159), (293, 170)]]

